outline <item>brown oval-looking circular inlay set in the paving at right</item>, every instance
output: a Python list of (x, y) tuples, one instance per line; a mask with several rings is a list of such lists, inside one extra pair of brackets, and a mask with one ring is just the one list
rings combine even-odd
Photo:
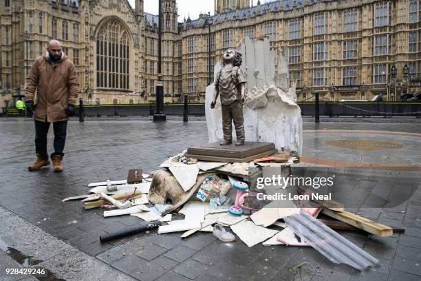
[(337, 140), (330, 141), (330, 145), (350, 149), (363, 149), (363, 150), (392, 150), (401, 149), (405, 145), (400, 143), (391, 143), (389, 141), (375, 141), (375, 140)]

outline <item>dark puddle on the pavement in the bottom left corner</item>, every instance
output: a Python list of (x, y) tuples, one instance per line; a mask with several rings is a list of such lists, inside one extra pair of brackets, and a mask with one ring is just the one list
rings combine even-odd
[[(41, 262), (43, 262), (43, 260), (36, 260), (36, 258), (32, 256), (25, 255), (18, 249), (8, 247), (8, 245), (2, 240), (0, 240), (0, 250), (7, 253), (8, 256), (10, 256), (10, 258), (12, 258), (13, 260), (16, 260), (19, 264), (21, 264), (22, 267), (39, 268), (39, 267), (34, 267), (34, 265), (40, 264)], [(44, 271), (45, 271), (44, 276), (33, 275), (33, 277), (40, 281), (66, 281), (65, 279), (57, 278), (56, 275), (48, 269), (44, 269)]]

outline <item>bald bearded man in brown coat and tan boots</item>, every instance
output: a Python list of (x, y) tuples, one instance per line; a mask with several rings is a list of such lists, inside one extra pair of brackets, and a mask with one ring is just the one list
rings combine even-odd
[[(36, 92), (36, 104), (34, 96)], [(61, 160), (65, 147), (67, 121), (74, 116), (79, 92), (76, 67), (62, 51), (61, 43), (51, 40), (47, 52), (35, 59), (26, 78), (26, 107), (34, 113), (36, 161), (28, 167), (36, 171), (50, 165), (47, 154), (47, 133), (50, 123), (54, 129), (54, 171), (63, 171)]]

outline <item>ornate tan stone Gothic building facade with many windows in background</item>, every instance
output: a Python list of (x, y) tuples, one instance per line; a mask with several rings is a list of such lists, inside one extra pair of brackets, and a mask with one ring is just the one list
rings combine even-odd
[[(155, 101), (158, 15), (144, 12), (143, 0), (134, 8), (127, 0), (0, 1), (0, 107), (24, 95), (50, 39), (76, 65), (86, 103)], [(325, 101), (380, 93), (399, 101), (421, 91), (420, 21), (420, 0), (215, 0), (213, 16), (179, 23), (176, 1), (162, 0), (164, 101), (188, 94), (203, 102), (209, 64), (245, 37), (285, 51), (299, 101), (314, 92)]]

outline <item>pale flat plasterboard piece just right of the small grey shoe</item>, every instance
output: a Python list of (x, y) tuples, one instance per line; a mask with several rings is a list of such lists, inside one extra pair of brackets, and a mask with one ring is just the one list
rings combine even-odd
[(231, 229), (248, 247), (253, 247), (260, 242), (266, 241), (279, 232), (278, 230), (259, 227), (249, 220), (231, 225)]

